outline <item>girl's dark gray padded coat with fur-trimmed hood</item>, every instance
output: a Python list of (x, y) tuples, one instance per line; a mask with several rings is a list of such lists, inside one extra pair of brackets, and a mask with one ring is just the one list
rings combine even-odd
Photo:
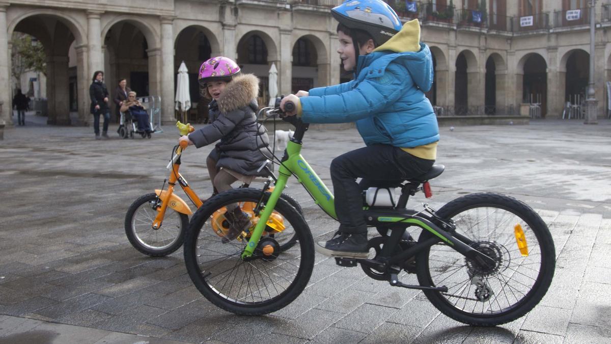
[(266, 176), (265, 170), (257, 169), (267, 159), (269, 138), (267, 130), (257, 122), (257, 94), (259, 80), (252, 74), (239, 75), (227, 84), (218, 102), (210, 102), (210, 124), (189, 134), (197, 148), (216, 144), (210, 156), (217, 167), (244, 174)]

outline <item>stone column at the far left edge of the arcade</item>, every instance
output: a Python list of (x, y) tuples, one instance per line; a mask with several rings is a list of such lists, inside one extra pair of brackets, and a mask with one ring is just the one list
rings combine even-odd
[(13, 110), (10, 106), (13, 92), (10, 89), (9, 37), (6, 27), (7, 6), (4, 3), (0, 4), (0, 103), (4, 103), (0, 112), (0, 124), (4, 121), (6, 125), (13, 125)]

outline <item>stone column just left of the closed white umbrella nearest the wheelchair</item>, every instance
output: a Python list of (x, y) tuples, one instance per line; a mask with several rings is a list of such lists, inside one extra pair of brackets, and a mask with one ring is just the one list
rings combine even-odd
[[(174, 17), (161, 17), (161, 65), (157, 68), (161, 94), (161, 122), (174, 124)], [(150, 80), (150, 78), (149, 78)]]

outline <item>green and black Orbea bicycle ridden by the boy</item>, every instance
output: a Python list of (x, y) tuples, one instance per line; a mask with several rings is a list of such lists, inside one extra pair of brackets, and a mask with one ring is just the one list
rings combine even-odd
[[(185, 263), (197, 289), (213, 304), (240, 315), (285, 307), (312, 274), (310, 228), (282, 198), (288, 178), (295, 175), (316, 204), (336, 218), (332, 193), (300, 154), (309, 124), (295, 117), (284, 120), (296, 129), (273, 192), (233, 189), (215, 196), (192, 217), (185, 240)], [(367, 224), (381, 236), (368, 242), (368, 259), (338, 257), (336, 263), (360, 264), (372, 279), (422, 290), (437, 309), (462, 323), (495, 326), (516, 320), (541, 301), (554, 275), (555, 248), (547, 225), (527, 204), (498, 193), (461, 196), (438, 211), (426, 204), (421, 211), (407, 209), (416, 192), (430, 196), (428, 181), (443, 171), (444, 166), (435, 165), (397, 185), (401, 195), (393, 206), (365, 204)], [(256, 204), (250, 228), (222, 244), (213, 228), (219, 209), (249, 202)], [(420, 230), (417, 241), (404, 236), (406, 228)], [(284, 230), (295, 234), (292, 245), (281, 249), (274, 236)], [(400, 282), (403, 271), (416, 274), (418, 285)]]

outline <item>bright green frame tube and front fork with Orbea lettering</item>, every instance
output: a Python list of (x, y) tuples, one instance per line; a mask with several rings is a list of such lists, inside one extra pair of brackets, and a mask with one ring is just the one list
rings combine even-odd
[(274, 186), (274, 191), (269, 196), (265, 209), (261, 213), (261, 217), (254, 230), (251, 233), (251, 239), (246, 245), (246, 249), (242, 253), (242, 258), (251, 256), (257, 247), (259, 239), (265, 230), (265, 225), (269, 220), (269, 215), (274, 211), (276, 203), (282, 191), (287, 186), (288, 178), (295, 174), (298, 181), (304, 185), (305, 189), (312, 195), (315, 203), (323, 209), (329, 216), (337, 219), (335, 215), (335, 202), (333, 193), (327, 189), (323, 181), (320, 180), (318, 175), (312, 170), (310, 164), (307, 163), (301, 155), (302, 144), (288, 141), (287, 143), (287, 155), (288, 159), (284, 160), (278, 170), (278, 180)]

